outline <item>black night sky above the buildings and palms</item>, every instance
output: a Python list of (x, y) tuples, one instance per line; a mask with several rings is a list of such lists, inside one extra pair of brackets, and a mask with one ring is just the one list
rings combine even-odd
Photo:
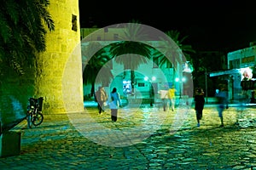
[[(234, 51), (256, 41), (253, 1), (79, 1), (80, 26), (115, 25), (138, 20), (160, 31), (189, 36), (186, 44), (200, 50)], [(162, 3), (161, 3), (162, 2)], [(254, 9), (253, 9), (254, 8)]]

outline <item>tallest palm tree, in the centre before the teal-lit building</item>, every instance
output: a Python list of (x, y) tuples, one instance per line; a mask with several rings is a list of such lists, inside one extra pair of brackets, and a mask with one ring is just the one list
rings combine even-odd
[[(131, 23), (127, 23), (124, 28), (124, 35), (124, 37), (120, 37), (122, 41), (112, 44), (110, 52), (113, 54), (116, 63), (124, 65), (124, 70), (130, 70), (131, 93), (133, 94), (135, 82), (134, 70), (139, 65), (148, 62), (147, 59), (151, 58), (151, 51), (149, 46), (142, 42), (148, 35), (143, 31), (142, 25), (137, 20), (131, 20)], [(121, 57), (120, 55), (124, 55), (125, 57)]]

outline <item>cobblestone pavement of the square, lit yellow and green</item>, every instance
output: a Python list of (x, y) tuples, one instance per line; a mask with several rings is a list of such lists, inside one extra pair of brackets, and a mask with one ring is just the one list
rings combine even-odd
[[(180, 106), (121, 108), (110, 111), (44, 115), (28, 129), (21, 122), (19, 156), (0, 158), (0, 169), (256, 169), (256, 108), (224, 111), (206, 105), (201, 127), (195, 110)], [(182, 114), (180, 114), (182, 113)]]

